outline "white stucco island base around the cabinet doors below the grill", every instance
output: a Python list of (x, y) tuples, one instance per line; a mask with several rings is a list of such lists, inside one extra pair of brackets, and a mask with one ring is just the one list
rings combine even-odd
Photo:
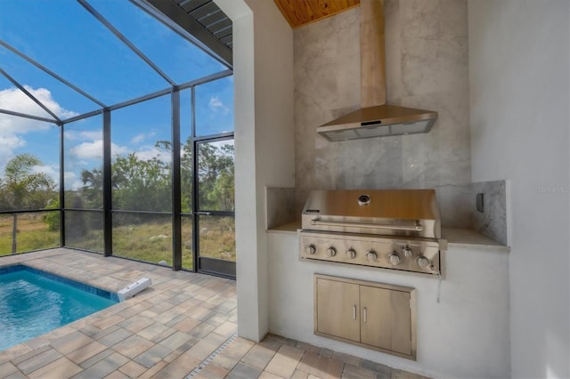
[[(439, 287), (423, 275), (301, 262), (295, 233), (271, 232), (268, 241), (271, 332), (430, 377), (509, 376), (509, 253), (450, 246)], [(415, 288), (417, 361), (314, 335), (315, 273)]]

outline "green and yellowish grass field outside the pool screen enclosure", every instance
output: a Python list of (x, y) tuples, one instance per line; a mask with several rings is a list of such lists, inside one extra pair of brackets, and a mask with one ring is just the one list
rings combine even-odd
[[(43, 214), (19, 214), (17, 252), (60, 246), (59, 231), (50, 231)], [(192, 268), (191, 224), (183, 222), (183, 268)], [(102, 230), (88, 230), (67, 246), (102, 252)], [(231, 217), (200, 220), (199, 246), (202, 256), (235, 262), (235, 233)], [(12, 215), (0, 216), (0, 255), (12, 253)], [(172, 225), (170, 222), (126, 224), (113, 228), (113, 254), (145, 262), (166, 262), (172, 266)]]

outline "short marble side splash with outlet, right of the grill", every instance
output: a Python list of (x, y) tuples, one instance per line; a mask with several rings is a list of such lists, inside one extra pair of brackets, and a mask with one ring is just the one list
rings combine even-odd
[[(478, 193), (483, 194), (483, 212), (478, 212), (476, 209), (476, 194)], [(506, 181), (484, 181), (471, 184), (472, 228), (508, 246), (507, 204)]]

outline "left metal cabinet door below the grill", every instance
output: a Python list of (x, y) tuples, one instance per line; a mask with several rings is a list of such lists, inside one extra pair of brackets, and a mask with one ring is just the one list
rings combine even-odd
[(317, 278), (315, 332), (360, 341), (358, 285)]

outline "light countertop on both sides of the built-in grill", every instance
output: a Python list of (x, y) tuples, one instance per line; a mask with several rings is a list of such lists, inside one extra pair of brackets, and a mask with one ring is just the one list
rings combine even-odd
[[(301, 229), (301, 222), (289, 222), (267, 230), (270, 233), (297, 233)], [(460, 228), (442, 228), (442, 239), (447, 241), (448, 246), (478, 247), (492, 250), (509, 252), (510, 247), (501, 245), (499, 242), (484, 236), (476, 230)]]

